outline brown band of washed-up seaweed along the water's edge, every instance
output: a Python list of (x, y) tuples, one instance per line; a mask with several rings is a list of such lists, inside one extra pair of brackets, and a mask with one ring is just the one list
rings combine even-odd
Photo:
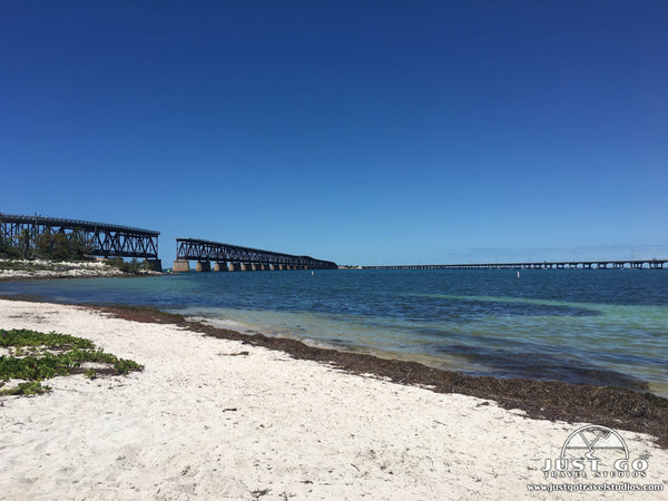
[[(20, 301), (43, 301), (39, 297), (17, 297)], [(297, 360), (325, 363), (352, 374), (373, 375), (399, 384), (422, 386), (436, 393), (459, 393), (492, 400), (502, 407), (521, 410), (532, 419), (589, 422), (649, 433), (657, 439), (657, 445), (668, 448), (668, 400), (649, 392), (559, 381), (469, 376), (419, 362), (323, 347), (291, 337), (239, 333), (150, 306), (72, 306), (132, 322), (177, 325), (207, 336), (240, 341), (243, 344), (279, 351)]]

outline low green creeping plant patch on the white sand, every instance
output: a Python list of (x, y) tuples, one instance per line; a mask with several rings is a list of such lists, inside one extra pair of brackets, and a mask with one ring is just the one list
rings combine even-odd
[[(0, 330), (0, 348), (6, 352), (0, 356), (0, 396), (49, 392), (43, 380), (59, 375), (85, 374), (96, 379), (144, 370), (132, 360), (118, 358), (96, 347), (90, 340), (53, 332)], [(21, 382), (3, 389), (10, 380)]]

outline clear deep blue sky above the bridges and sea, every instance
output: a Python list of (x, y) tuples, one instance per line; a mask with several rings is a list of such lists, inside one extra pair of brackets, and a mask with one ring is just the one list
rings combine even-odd
[(668, 1), (4, 1), (0, 212), (340, 264), (668, 256)]

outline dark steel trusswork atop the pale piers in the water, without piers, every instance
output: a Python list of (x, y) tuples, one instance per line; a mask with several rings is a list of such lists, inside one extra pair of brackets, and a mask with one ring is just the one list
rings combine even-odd
[(335, 269), (338, 266), (331, 261), (315, 259), (311, 256), (291, 254), (220, 244), (218, 242), (195, 238), (176, 239), (177, 261), (197, 261), (216, 263), (243, 263), (257, 265), (291, 266), (307, 269)]

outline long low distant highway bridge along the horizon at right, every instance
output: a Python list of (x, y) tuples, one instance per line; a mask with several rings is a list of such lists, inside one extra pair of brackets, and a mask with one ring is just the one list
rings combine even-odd
[(474, 263), (443, 265), (362, 266), (364, 269), (664, 269), (668, 259), (544, 261), (542, 263)]

